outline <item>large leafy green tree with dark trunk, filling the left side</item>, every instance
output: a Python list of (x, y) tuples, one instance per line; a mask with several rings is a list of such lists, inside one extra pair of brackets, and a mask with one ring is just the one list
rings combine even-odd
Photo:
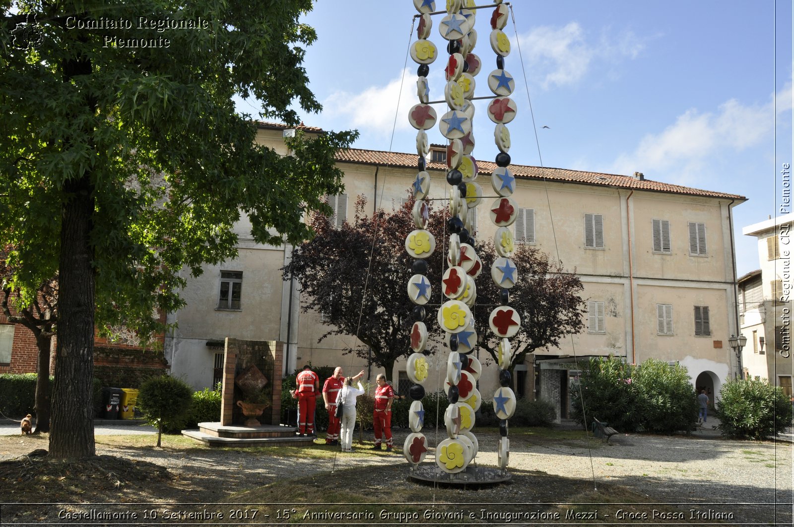
[(241, 211), (257, 241), (309, 237), (354, 134), (299, 133), (282, 157), (235, 112), (236, 95), (289, 125), (320, 110), (310, 0), (0, 2), (0, 243), (23, 302), (58, 271), (49, 455), (93, 456), (95, 323), (154, 329), (181, 268), (235, 256)]

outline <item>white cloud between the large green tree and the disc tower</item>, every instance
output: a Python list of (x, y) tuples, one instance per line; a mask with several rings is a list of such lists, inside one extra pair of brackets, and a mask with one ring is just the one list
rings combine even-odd
[(406, 69), (384, 86), (364, 87), (359, 93), (337, 91), (331, 94), (322, 101), (322, 113), (326, 120), (343, 123), (335, 125), (336, 128), (386, 135), (395, 125), (398, 130), (410, 129), (408, 110), (417, 102), (416, 75)]

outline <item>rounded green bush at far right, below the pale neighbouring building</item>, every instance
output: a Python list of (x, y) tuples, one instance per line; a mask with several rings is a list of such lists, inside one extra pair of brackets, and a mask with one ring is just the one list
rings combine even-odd
[(765, 380), (732, 380), (719, 390), (716, 414), (723, 436), (761, 440), (792, 425), (792, 405)]

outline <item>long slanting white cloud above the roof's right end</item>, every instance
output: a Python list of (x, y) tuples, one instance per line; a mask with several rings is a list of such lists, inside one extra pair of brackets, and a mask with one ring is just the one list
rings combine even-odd
[[(777, 113), (791, 110), (792, 85), (777, 94)], [(761, 144), (773, 133), (773, 103), (744, 106), (735, 99), (715, 112), (687, 110), (661, 133), (649, 133), (634, 152), (622, 153), (611, 171), (642, 171), (650, 179), (695, 185), (698, 172), (722, 152), (741, 152)], [(676, 175), (660, 172), (675, 169)]]

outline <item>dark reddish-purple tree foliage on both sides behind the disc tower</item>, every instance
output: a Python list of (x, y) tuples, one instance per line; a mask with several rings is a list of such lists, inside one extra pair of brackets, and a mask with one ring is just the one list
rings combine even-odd
[[(394, 364), (408, 356), (410, 349), (411, 311), (414, 304), (407, 295), (407, 283), (414, 271), (413, 260), (405, 250), (405, 239), (416, 229), (410, 199), (393, 212), (364, 212), (364, 198), (358, 198), (353, 221), (337, 229), (329, 217), (317, 214), (310, 225), (317, 235), (293, 253), (284, 268), (284, 278), (294, 276), (301, 284), (302, 310), (318, 311), (326, 316), (331, 328), (320, 337), (355, 335), (362, 345), (346, 350), (362, 359), (371, 359), (384, 367), (391, 379)], [(426, 274), (433, 287), (431, 302), (426, 305), (426, 325), (431, 334), (441, 335), (436, 314), (441, 302), (441, 274), (448, 267), (445, 258), (446, 210), (430, 214), (428, 229), (436, 238), (436, 251)], [(476, 306), (472, 310), (480, 348), (496, 361), (499, 339), (489, 329), (488, 317), (502, 302), (501, 289), (491, 279), (495, 260), (491, 240), (481, 238), (475, 245), (483, 271), (476, 279)], [(582, 320), (582, 284), (575, 274), (552, 264), (538, 248), (519, 246), (513, 256), (518, 282), (510, 290), (509, 305), (518, 311), (521, 327), (511, 337), (513, 356), (510, 370), (523, 364), (528, 353), (538, 348), (556, 347), (561, 337), (579, 333)], [(429, 344), (428, 352), (434, 346)]]

